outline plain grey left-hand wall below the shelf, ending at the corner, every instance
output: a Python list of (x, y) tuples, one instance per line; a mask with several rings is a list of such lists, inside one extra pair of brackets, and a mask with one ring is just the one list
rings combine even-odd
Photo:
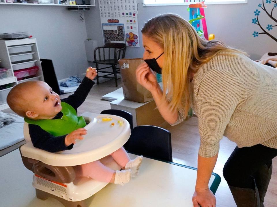
[(63, 6), (0, 5), (0, 33), (28, 31), (37, 39), (40, 58), (51, 59), (57, 79), (85, 72), (88, 66), (85, 22)]

